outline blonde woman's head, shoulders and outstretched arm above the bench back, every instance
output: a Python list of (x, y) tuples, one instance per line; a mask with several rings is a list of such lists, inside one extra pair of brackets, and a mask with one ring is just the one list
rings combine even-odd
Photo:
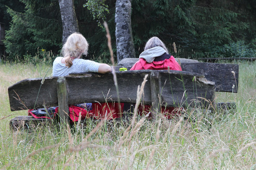
[(56, 57), (53, 61), (52, 76), (67, 76), (70, 73), (82, 72), (111, 72), (108, 64), (98, 63), (88, 59), (81, 59), (82, 54), (87, 55), (88, 43), (79, 33), (72, 33), (62, 48), (63, 57)]

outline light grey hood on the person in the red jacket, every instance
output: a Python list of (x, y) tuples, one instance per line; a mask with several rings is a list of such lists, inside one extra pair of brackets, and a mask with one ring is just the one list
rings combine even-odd
[(167, 53), (167, 51), (162, 47), (153, 47), (142, 52), (139, 58), (144, 58), (148, 63), (151, 63), (156, 57), (162, 56), (165, 53)]

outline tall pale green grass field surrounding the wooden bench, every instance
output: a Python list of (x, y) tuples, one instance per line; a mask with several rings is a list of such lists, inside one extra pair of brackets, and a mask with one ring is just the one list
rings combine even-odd
[(216, 93), (236, 111), (186, 111), (189, 119), (88, 121), (61, 129), (11, 132), (7, 88), (51, 75), (50, 66), (0, 64), (0, 169), (256, 169), (256, 62), (239, 62), (238, 93)]

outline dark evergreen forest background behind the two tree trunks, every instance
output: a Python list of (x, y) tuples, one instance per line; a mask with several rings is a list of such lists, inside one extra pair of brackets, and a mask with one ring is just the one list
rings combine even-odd
[[(98, 26), (85, 0), (74, 0), (79, 31), (89, 43), (88, 59), (109, 60), (106, 31)], [(115, 0), (105, 13), (115, 46)], [(256, 0), (132, 0), (131, 27), (135, 57), (158, 36), (178, 57), (256, 57)], [(62, 47), (58, 0), (0, 0), (5, 60), (35, 57)], [(40, 55), (38, 55), (40, 56)]]

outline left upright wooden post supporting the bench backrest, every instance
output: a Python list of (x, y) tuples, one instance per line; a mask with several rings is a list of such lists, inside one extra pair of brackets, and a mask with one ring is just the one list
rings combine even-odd
[(59, 120), (60, 123), (65, 123), (69, 119), (69, 102), (65, 77), (60, 77), (57, 81), (57, 95), (59, 106)]

